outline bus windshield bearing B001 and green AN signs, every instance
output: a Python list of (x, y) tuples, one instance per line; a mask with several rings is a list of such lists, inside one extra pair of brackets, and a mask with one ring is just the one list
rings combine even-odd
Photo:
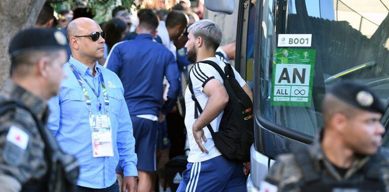
[(314, 137), (334, 83), (353, 81), (389, 98), (389, 1), (264, 0), (254, 68), (256, 115)]

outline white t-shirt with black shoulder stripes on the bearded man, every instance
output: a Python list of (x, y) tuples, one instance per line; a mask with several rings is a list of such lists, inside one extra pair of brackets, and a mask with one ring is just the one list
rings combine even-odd
[[(225, 63), (218, 60), (216, 57), (210, 57), (205, 60), (211, 60), (215, 63), (217, 63), (222, 69), (224, 69)], [(234, 68), (233, 68), (234, 69)], [(237, 79), (239, 85), (242, 87), (246, 84), (245, 80), (242, 79), (241, 75), (234, 69), (235, 78)], [(217, 79), (221, 83), (223, 83), (223, 80), (220, 76), (220, 74), (217, 72), (215, 68), (213, 68), (211, 65), (206, 63), (197, 63), (193, 65), (192, 69), (190, 70), (190, 80), (192, 81), (192, 88), (193, 92), (195, 93), (196, 99), (199, 101), (201, 108), (205, 108), (205, 105), (208, 102), (209, 97), (203, 92), (204, 86), (207, 84), (208, 81), (212, 79)], [(197, 145), (195, 141), (195, 137), (193, 137), (193, 131), (192, 131), (192, 125), (195, 123), (195, 101), (192, 100), (191, 93), (189, 91), (189, 88), (186, 87), (185, 90), (185, 106), (186, 106), (186, 113), (185, 113), (185, 127), (186, 131), (188, 133), (188, 140), (189, 140), (189, 155), (188, 155), (188, 162), (191, 163), (197, 163), (197, 162), (203, 162), (207, 161), (209, 159), (212, 159), (214, 157), (220, 156), (221, 153), (216, 148), (215, 143), (213, 142), (211, 133), (209, 132), (208, 128), (203, 128), (205, 137), (207, 138), (207, 142), (203, 142), (203, 145), (205, 148), (209, 151), (209, 153), (202, 152)], [(200, 112), (198, 111), (198, 114), (200, 116)], [(217, 132), (219, 130), (219, 124), (221, 117), (223, 116), (223, 112), (219, 114), (219, 116), (214, 119), (211, 122), (211, 127), (214, 130), (214, 132)]]

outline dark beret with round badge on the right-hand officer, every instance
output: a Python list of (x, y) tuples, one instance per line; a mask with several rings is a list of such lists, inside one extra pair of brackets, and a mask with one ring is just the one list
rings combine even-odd
[(378, 96), (366, 86), (342, 81), (332, 87), (330, 93), (359, 109), (384, 113), (385, 107)]

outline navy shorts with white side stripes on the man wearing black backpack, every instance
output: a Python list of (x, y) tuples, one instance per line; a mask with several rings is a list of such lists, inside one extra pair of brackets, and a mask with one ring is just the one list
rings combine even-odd
[(243, 163), (218, 156), (188, 163), (177, 191), (246, 191)]

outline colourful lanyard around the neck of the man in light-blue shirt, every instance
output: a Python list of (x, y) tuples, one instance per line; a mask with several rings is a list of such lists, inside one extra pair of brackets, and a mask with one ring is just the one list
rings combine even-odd
[[(80, 86), (81, 86), (81, 89), (83, 90), (84, 92), (84, 96), (85, 96), (85, 100), (87, 102), (87, 108), (89, 110), (89, 114), (91, 114), (91, 111), (92, 111), (92, 104), (91, 104), (91, 99), (89, 97), (89, 94), (87, 92), (87, 89), (84, 85), (84, 82), (83, 80), (88, 84), (88, 86), (92, 89), (93, 93), (96, 95), (97, 97), (97, 100), (99, 102), (99, 112), (101, 113), (101, 103), (100, 103), (100, 99), (99, 99), (99, 95), (100, 95), (100, 87), (102, 87), (102, 91), (103, 91), (103, 95), (104, 95), (104, 104), (108, 106), (108, 109), (107, 109), (107, 114), (108, 114), (108, 110), (109, 110), (109, 100), (108, 100), (108, 93), (107, 93), (107, 90), (105, 88), (105, 83), (104, 83), (104, 78), (103, 78), (103, 75), (102, 73), (100, 72), (99, 74), (99, 88), (98, 88), (98, 92), (96, 92), (95, 89), (93, 89), (93, 87), (91, 86), (91, 84), (88, 82), (88, 80), (84, 77), (83, 74), (81, 74), (81, 72), (79, 70), (77, 70), (77, 68), (74, 67), (74, 65), (69, 61), (69, 68), (71, 69), (71, 71), (73, 72), (75, 78), (77, 79), (77, 81), (79, 82)], [(81, 78), (83, 80), (81, 80)], [(101, 85), (101, 86), (100, 86)], [(90, 107), (88, 107), (90, 106)]]

